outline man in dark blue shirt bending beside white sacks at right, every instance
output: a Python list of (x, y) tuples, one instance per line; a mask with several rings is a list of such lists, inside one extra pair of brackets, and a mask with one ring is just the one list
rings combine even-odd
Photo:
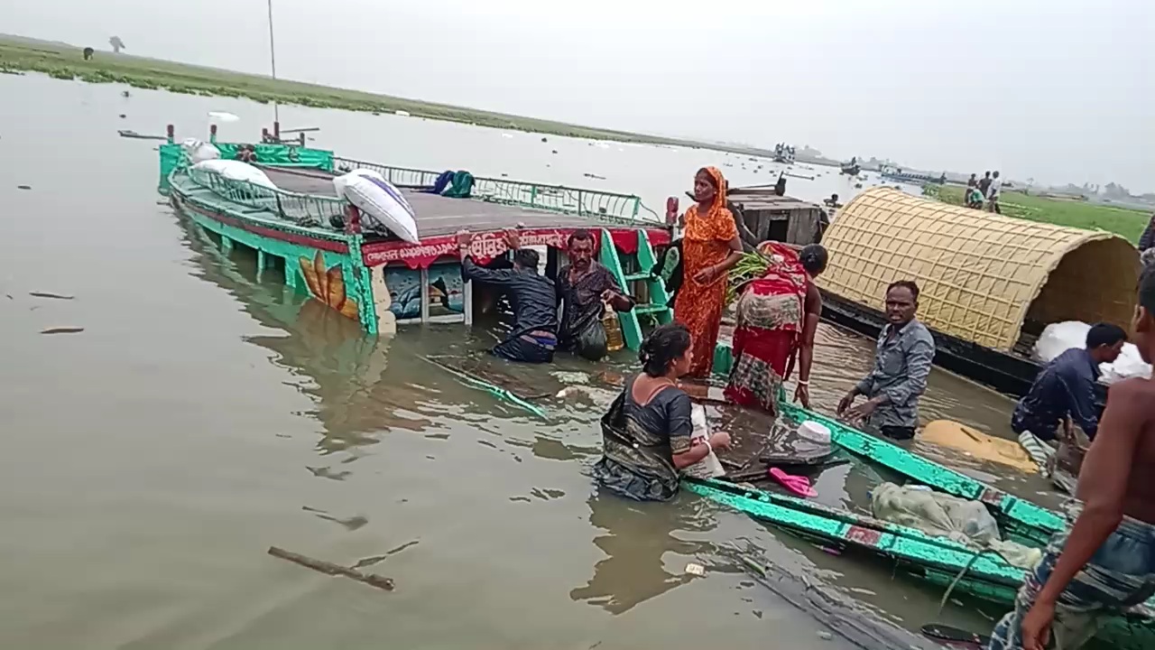
[(1046, 473), (1046, 461), (1055, 453), (1055, 441), (1063, 421), (1071, 421), (1095, 440), (1098, 409), (1095, 406), (1095, 383), (1100, 363), (1111, 363), (1123, 352), (1127, 333), (1117, 325), (1100, 323), (1087, 332), (1086, 348), (1071, 348), (1056, 356), (1035, 377), (1035, 383), (1011, 416), (1011, 429), (1019, 434), (1019, 444)]

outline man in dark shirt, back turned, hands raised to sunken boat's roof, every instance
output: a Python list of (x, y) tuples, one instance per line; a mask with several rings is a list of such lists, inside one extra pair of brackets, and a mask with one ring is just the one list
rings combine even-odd
[(513, 330), (490, 350), (509, 361), (549, 363), (558, 347), (558, 302), (553, 280), (538, 274), (537, 251), (519, 249), (517, 234), (506, 231), (506, 245), (513, 250), (513, 268), (485, 268), (469, 254), (471, 232), (457, 232), (461, 276), (505, 289), (513, 305)]

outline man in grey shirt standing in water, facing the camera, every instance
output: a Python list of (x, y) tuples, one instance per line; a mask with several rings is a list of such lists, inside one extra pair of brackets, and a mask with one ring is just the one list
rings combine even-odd
[[(915, 320), (917, 310), (918, 285), (902, 280), (887, 287), (889, 323), (878, 337), (874, 369), (842, 398), (839, 415), (865, 421), (869, 428), (889, 438), (915, 437), (918, 397), (926, 390), (934, 360), (934, 339), (925, 325)], [(867, 400), (854, 406), (858, 396)]]

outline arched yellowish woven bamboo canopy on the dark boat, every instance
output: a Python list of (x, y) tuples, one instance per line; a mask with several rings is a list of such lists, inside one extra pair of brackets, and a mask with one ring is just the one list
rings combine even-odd
[[(875, 187), (839, 210), (822, 237), (819, 286), (882, 309), (886, 287), (914, 280), (918, 318), (944, 334), (1011, 352), (1061, 320), (1127, 327), (1139, 253), (1123, 237), (951, 206)], [(1037, 334), (1038, 331), (1033, 333)]]

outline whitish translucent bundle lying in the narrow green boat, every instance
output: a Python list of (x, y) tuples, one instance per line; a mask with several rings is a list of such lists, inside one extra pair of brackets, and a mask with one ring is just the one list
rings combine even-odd
[(870, 505), (879, 519), (975, 548), (990, 548), (1015, 567), (1034, 567), (1043, 556), (1038, 548), (1003, 540), (994, 517), (977, 501), (887, 482), (874, 488)]

